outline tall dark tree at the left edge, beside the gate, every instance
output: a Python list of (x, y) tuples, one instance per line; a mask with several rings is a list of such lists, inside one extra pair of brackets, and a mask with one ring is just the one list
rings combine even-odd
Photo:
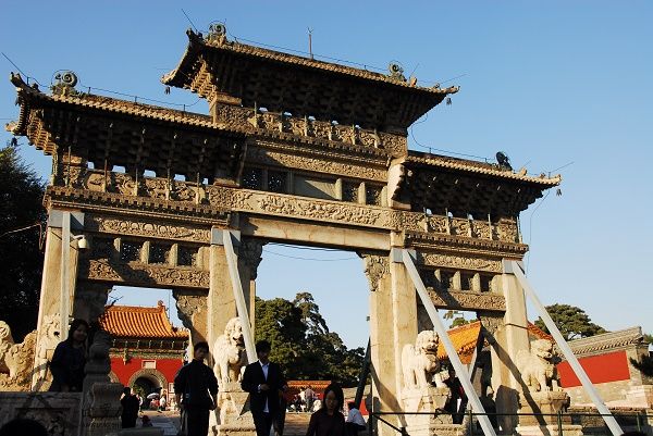
[(38, 316), (44, 190), (15, 142), (0, 149), (0, 320), (10, 325), (16, 341), (36, 328)]

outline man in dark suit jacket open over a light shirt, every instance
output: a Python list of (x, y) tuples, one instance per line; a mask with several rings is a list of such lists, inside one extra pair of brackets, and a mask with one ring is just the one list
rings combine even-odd
[(274, 423), (278, 432), (282, 432), (283, 423), (276, 422), (280, 416), (280, 398), (287, 385), (276, 363), (270, 362), (270, 342), (256, 342), (258, 362), (245, 368), (241, 387), (249, 393), (249, 409), (254, 418), (257, 436), (270, 436), (270, 427)]

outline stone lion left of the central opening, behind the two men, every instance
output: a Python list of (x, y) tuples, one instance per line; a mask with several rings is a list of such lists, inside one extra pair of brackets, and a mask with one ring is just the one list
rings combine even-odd
[(224, 334), (215, 339), (213, 346), (215, 377), (223, 384), (239, 382), (242, 371), (247, 364), (243, 324), (239, 317), (232, 317), (224, 327)]

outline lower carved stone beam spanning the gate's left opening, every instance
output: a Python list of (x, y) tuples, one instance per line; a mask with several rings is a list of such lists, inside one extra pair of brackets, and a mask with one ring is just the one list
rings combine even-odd
[(89, 260), (81, 269), (81, 277), (89, 281), (125, 283), (132, 286), (170, 286), (208, 288), (209, 272), (192, 267), (169, 267), (139, 264), (136, 262), (120, 263), (106, 259)]

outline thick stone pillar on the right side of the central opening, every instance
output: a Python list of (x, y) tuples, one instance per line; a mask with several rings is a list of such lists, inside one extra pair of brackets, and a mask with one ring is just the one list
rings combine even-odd
[[(370, 295), (370, 356), (375, 412), (402, 411), (402, 349), (417, 337), (416, 291), (403, 263), (384, 256), (365, 256)], [(387, 416), (405, 427), (402, 415)], [(378, 424), (381, 434), (394, 434)]]

